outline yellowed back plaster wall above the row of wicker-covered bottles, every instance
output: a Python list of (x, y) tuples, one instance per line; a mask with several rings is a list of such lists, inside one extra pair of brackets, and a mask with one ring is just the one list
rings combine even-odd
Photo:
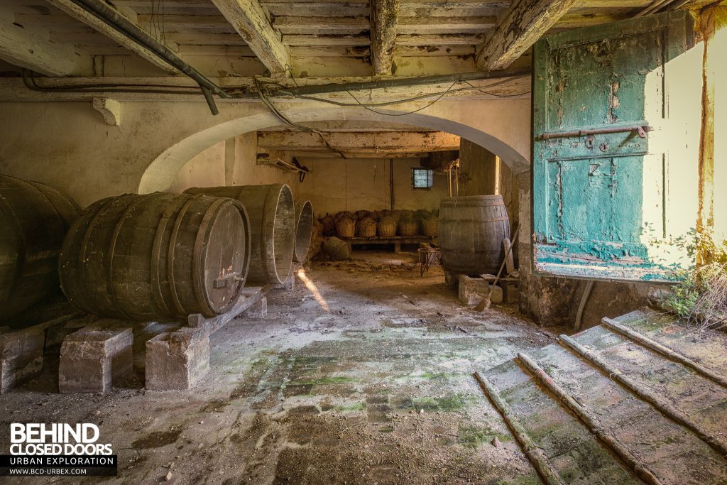
[[(308, 199), (318, 215), (342, 210), (390, 209), (390, 159), (304, 159), (312, 172), (296, 182), (297, 197)], [(394, 209), (439, 208), (446, 197), (446, 175), (434, 175), (430, 189), (411, 188), (411, 169), (421, 168), (419, 159), (393, 159)]]

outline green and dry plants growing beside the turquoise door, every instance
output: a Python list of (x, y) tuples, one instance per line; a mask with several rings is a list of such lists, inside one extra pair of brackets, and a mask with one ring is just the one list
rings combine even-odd
[(700, 264), (675, 273), (677, 283), (662, 303), (699, 329), (727, 329), (727, 241), (715, 240), (712, 231), (694, 231), (683, 241), (690, 257), (701, 255)]

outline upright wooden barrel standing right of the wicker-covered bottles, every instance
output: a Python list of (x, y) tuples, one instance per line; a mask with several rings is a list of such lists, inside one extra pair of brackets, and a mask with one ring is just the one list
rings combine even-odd
[(510, 220), (502, 196), (449, 197), (439, 210), (442, 266), (454, 274), (497, 274), (510, 239)]

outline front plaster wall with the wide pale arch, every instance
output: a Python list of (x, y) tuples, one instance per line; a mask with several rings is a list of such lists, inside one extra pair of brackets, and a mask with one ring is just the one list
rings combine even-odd
[[(409, 113), (416, 103), (390, 113)], [(391, 121), (358, 108), (315, 102), (279, 103), (297, 122)], [(105, 196), (169, 189), (177, 172), (206, 148), (280, 124), (262, 103), (124, 102), (121, 124), (111, 127), (90, 102), (1, 103), (0, 172), (47, 183), (82, 206)], [(395, 121), (441, 129), (498, 153), (515, 172), (529, 169), (529, 100), (442, 101)], [(498, 119), (493, 124), (487, 120)]]

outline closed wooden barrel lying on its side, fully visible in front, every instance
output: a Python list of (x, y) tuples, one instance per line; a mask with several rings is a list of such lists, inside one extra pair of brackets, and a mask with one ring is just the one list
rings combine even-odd
[(95, 202), (68, 231), (60, 283), (102, 316), (153, 321), (215, 316), (238, 299), (250, 230), (238, 201), (192, 194), (126, 194)]

